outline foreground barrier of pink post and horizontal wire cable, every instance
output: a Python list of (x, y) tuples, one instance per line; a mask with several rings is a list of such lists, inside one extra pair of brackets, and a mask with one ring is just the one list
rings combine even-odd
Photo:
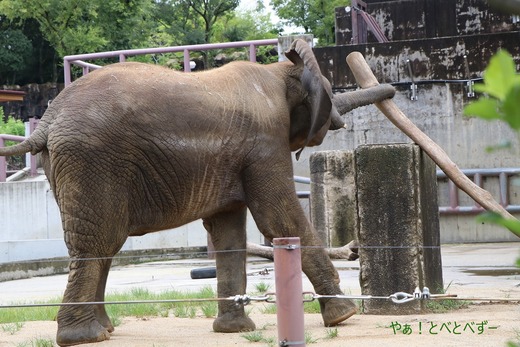
[[(131, 301), (93, 301), (93, 302), (66, 302), (66, 303), (14, 303), (1, 304), (0, 309), (28, 308), (28, 307), (61, 307), (82, 305), (130, 305), (130, 304), (158, 304), (158, 303), (204, 303), (204, 302), (234, 302), (236, 305), (249, 305), (252, 302), (276, 304), (278, 322), (279, 346), (305, 346), (304, 311), (303, 303), (319, 299), (346, 299), (346, 300), (388, 300), (394, 304), (405, 304), (412, 301), (428, 300), (464, 300), (489, 302), (520, 302), (520, 298), (479, 298), (459, 297), (456, 294), (430, 294), (427, 287), (422, 290), (418, 287), (413, 293), (396, 292), (387, 296), (374, 295), (321, 295), (302, 291), (301, 250), (316, 248), (301, 246), (297, 237), (278, 238), (274, 243), (275, 293), (265, 293), (260, 296), (237, 294), (224, 298), (191, 298), (191, 299), (161, 299), (161, 300), (131, 300)], [(245, 249), (226, 250), (222, 252), (245, 252)], [(99, 259), (99, 258), (91, 258)]]

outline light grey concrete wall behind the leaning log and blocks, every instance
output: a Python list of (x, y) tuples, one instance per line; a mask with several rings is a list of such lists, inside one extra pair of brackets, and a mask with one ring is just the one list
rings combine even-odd
[[(411, 101), (409, 92), (400, 90), (394, 100), (401, 110), (422, 131), (438, 143), (460, 168), (500, 168), (520, 166), (520, 143), (507, 125), (486, 122), (462, 115), (468, 98), (461, 86), (453, 84), (421, 85), (418, 100)], [(365, 144), (410, 143), (375, 106), (365, 106), (345, 116), (347, 129), (329, 132), (323, 144), (306, 148), (299, 161), (294, 161), (295, 174), (309, 176), (309, 158), (314, 151), (354, 150)], [(508, 150), (486, 152), (487, 146), (510, 140)], [(498, 180), (488, 179), (484, 188), (498, 200)], [(511, 204), (520, 204), (520, 187), (510, 185)], [(447, 181), (439, 181), (439, 205), (448, 205)], [(472, 200), (460, 194), (461, 205), (470, 206)], [(519, 217), (519, 216), (517, 216)], [(503, 228), (475, 221), (475, 215), (442, 215), (441, 242), (499, 242), (518, 241)]]

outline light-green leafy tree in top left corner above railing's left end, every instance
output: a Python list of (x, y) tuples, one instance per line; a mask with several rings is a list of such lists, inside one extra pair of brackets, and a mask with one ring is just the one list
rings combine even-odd
[(56, 53), (52, 78), (56, 82), (57, 63), (63, 56), (123, 48), (142, 39), (129, 39), (134, 33), (148, 35), (143, 23), (150, 6), (147, 0), (2, 0), (0, 13), (18, 23), (34, 19), (39, 24)]

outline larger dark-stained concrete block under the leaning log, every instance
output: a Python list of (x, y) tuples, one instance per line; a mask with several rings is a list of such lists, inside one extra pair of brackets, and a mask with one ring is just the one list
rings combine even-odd
[[(360, 146), (355, 151), (361, 291), (388, 296), (443, 288), (435, 164), (413, 144)], [(366, 300), (370, 314), (410, 314), (412, 301)]]

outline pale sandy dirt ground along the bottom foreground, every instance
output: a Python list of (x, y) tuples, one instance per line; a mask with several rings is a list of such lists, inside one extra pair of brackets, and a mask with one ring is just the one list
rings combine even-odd
[[(259, 313), (260, 305), (253, 304), (250, 315), (264, 339), (260, 342), (245, 338), (251, 333), (214, 333), (213, 319), (169, 317), (125, 318), (110, 340), (82, 346), (278, 346), (276, 315)], [(54, 341), (56, 328), (56, 322), (45, 321), (26, 322), (14, 334), (0, 330), (0, 346), (36, 347), (38, 339)], [(336, 337), (319, 314), (306, 314), (305, 331), (308, 346), (506, 346), (508, 341), (520, 343), (520, 305), (470, 304), (448, 313), (411, 316), (359, 314), (338, 326)]]

